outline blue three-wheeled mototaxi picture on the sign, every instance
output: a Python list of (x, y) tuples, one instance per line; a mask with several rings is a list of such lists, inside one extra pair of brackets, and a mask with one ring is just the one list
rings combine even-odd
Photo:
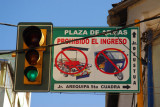
[(127, 66), (128, 59), (123, 51), (104, 50), (102, 52), (95, 52), (97, 68), (106, 73), (114, 74), (119, 80), (123, 80), (124, 76), (122, 70)]

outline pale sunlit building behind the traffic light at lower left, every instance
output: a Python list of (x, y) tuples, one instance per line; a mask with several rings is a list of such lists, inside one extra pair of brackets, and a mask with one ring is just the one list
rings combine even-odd
[(0, 107), (30, 107), (30, 92), (14, 92), (14, 58), (0, 56)]

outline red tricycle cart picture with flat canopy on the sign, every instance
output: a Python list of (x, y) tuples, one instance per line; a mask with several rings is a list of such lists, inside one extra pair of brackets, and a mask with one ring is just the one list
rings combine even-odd
[[(75, 52), (75, 56), (68, 57), (64, 51)], [(61, 55), (60, 58), (56, 59), (56, 66), (64, 74), (64, 77), (68, 77), (68, 75), (76, 76), (76, 79), (89, 77), (90, 75), (90, 67), (92, 65), (88, 64), (87, 56), (83, 51), (88, 51), (88, 48), (82, 47), (64, 47), (62, 48), (62, 52), (59, 53)], [(78, 53), (84, 55), (86, 61), (81, 62), (78, 60)]]

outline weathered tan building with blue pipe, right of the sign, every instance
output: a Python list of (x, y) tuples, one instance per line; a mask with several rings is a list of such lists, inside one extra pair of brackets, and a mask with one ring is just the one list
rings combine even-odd
[[(107, 17), (109, 26), (125, 26), (160, 15), (159, 0), (123, 0), (112, 4)], [(110, 107), (159, 107), (160, 105), (160, 19), (140, 23), (142, 57), (141, 93), (117, 94), (117, 105)], [(108, 96), (107, 99), (112, 97)], [(109, 101), (109, 100), (108, 100)], [(109, 103), (109, 102), (108, 102)], [(106, 104), (106, 107), (107, 106)]]

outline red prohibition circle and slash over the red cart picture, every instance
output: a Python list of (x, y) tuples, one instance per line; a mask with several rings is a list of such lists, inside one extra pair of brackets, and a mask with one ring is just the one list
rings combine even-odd
[[(65, 51), (79, 51), (80, 53), (82, 53), (82, 55), (84, 55), (85, 60), (86, 60), (85, 65), (82, 66), (82, 65), (77, 65), (77, 64), (75, 64), (74, 61), (72, 61), (72, 60), (64, 53)], [(66, 72), (66, 71), (64, 71), (64, 69), (60, 68), (60, 66), (59, 66), (59, 64), (58, 64), (58, 57), (59, 57), (61, 54), (64, 55), (65, 58), (67, 58), (68, 64), (69, 64), (69, 65), (65, 65), (63, 62), (61, 62), (61, 66), (63, 66), (64, 69), (68, 69), (67, 67), (69, 67), (70, 70), (71, 70), (71, 68), (75, 68), (75, 69), (77, 70), (77, 72)], [(64, 74), (69, 74), (69, 75), (78, 74), (78, 73), (82, 72), (82, 71), (87, 67), (87, 65), (88, 65), (88, 58), (87, 58), (86, 54), (85, 54), (83, 51), (81, 51), (80, 49), (77, 49), (77, 48), (66, 48), (66, 49), (60, 51), (60, 52), (57, 54), (56, 58), (55, 58), (55, 66), (57, 67), (57, 69), (58, 69), (60, 72), (62, 72), (62, 73), (64, 73)], [(68, 69), (68, 70), (69, 70), (69, 69)]]

